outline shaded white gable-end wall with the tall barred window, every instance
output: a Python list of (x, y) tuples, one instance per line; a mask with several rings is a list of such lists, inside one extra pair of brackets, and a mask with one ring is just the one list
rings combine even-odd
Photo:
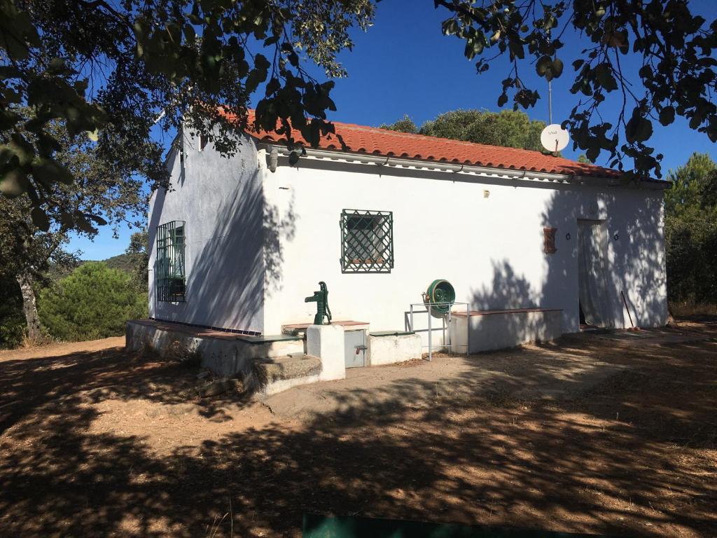
[[(149, 214), (149, 315), (167, 321), (263, 332), (263, 199), (255, 145), (230, 159), (209, 143), (184, 140), (167, 161), (169, 192), (153, 193)], [(186, 221), (186, 302), (156, 301), (156, 227)]]

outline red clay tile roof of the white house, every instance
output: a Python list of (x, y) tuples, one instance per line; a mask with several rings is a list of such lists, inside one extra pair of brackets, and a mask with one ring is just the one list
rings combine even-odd
[[(616, 170), (594, 164), (583, 164), (562, 157), (543, 155), (539, 151), (488, 146), (451, 140), (450, 138), (437, 138), (436, 136), (398, 133), (397, 131), (341, 123), (340, 121), (332, 123), (336, 128), (336, 134), (329, 134), (321, 138), (319, 143), (321, 149), (551, 174), (609, 178), (620, 175)], [(254, 110), (249, 111), (249, 125), (254, 125)], [(250, 134), (260, 141), (286, 142), (285, 136), (272, 131), (250, 130)], [(341, 137), (346, 148), (343, 148), (338, 137)], [(294, 139), (297, 143), (310, 146), (298, 131), (294, 133)]]

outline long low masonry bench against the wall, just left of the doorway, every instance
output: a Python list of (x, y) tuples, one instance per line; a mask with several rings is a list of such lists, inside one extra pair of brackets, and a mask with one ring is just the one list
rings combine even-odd
[[(467, 339), (470, 339), (470, 353), (554, 340), (563, 334), (562, 318), (560, 308), (474, 310), (470, 316), (466, 312), (452, 312), (453, 351), (465, 353)], [(470, 335), (467, 333), (468, 321)]]

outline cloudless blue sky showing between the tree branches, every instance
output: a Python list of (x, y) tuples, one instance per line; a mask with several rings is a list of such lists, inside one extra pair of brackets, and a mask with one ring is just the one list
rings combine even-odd
[[(693, 0), (690, 6), (708, 21), (717, 16), (716, 0)], [(330, 119), (378, 126), (408, 114), (420, 125), (457, 108), (498, 110), (500, 81), (508, 68), (496, 64), (483, 75), (476, 75), (475, 61), (463, 56), (462, 41), (441, 34), (440, 23), (446, 17), (446, 11), (434, 9), (430, 0), (381, 1), (374, 26), (365, 34), (355, 32), (353, 51), (341, 54), (348, 77), (336, 81), (333, 100), (338, 110)], [(566, 69), (563, 76), (553, 82), (555, 123), (566, 118), (576, 104), (576, 96), (569, 92), (573, 73), (570, 63), (582, 48), (578, 39), (567, 39), (561, 54)], [(637, 67), (639, 65), (629, 60), (623, 63), (626, 73), (636, 72)], [(320, 76), (319, 72), (316, 74)], [(546, 82), (538, 80), (533, 67), (527, 64), (521, 76), (543, 92), (536, 108), (528, 110), (528, 114), (547, 121)], [(608, 100), (604, 105), (604, 118), (615, 117), (617, 103)], [(510, 108), (511, 104), (507, 106)], [(656, 124), (650, 143), (658, 153), (665, 155), (663, 174), (683, 164), (694, 151), (717, 157), (715, 144), (679, 119), (669, 127)], [(572, 151), (571, 145), (563, 151), (564, 156), (571, 159), (579, 153)], [(607, 156), (603, 154), (602, 158)], [(607, 163), (601, 159), (599, 164)], [(112, 230), (105, 227), (94, 241), (72, 237), (68, 248), (82, 250), (85, 260), (102, 260), (123, 253), (131, 232), (120, 227), (118, 237), (114, 238)]]

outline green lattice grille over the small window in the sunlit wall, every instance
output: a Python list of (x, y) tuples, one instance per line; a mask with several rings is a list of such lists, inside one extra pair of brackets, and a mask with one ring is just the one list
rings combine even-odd
[(393, 268), (393, 212), (343, 209), (341, 212), (343, 273), (390, 273)]

